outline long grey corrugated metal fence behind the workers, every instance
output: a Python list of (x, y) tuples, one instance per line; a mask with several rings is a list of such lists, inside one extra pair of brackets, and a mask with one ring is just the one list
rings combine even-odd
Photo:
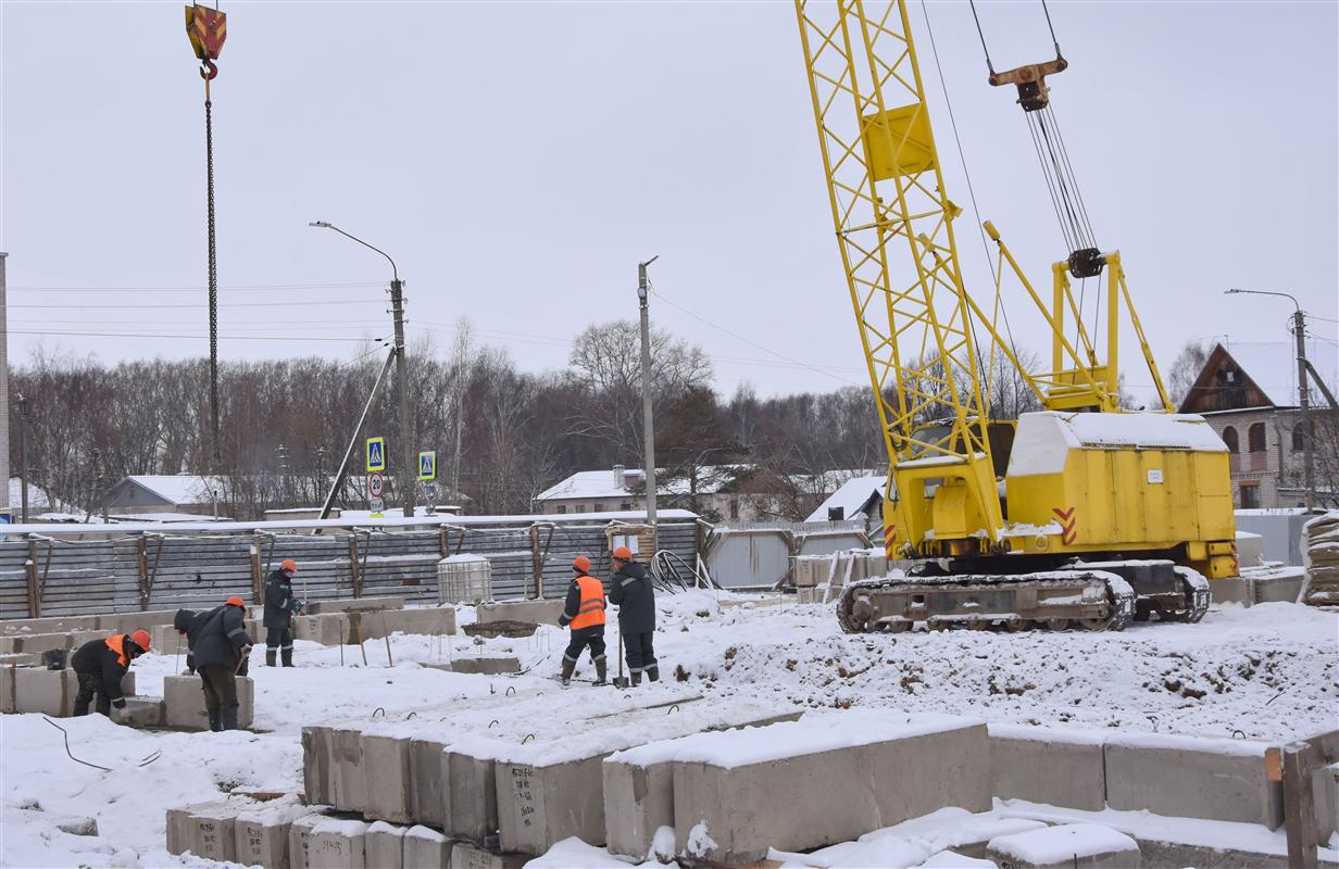
[[(78, 526), (76, 526), (78, 528)], [(493, 596), (558, 597), (572, 560), (590, 557), (608, 577), (608, 525), (469, 524), (431, 530), (325, 529), (321, 534), (146, 533), (71, 540), (79, 530), (0, 538), (0, 619), (216, 605), (230, 595), (258, 600), (284, 558), (299, 564), (304, 599), (404, 597), (437, 603), (437, 562), (473, 553), (493, 566)], [(698, 522), (660, 525), (660, 548), (698, 564)]]

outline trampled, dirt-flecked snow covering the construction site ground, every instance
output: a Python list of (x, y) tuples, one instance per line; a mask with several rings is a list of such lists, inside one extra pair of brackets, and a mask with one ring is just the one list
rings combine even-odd
[[(777, 600), (722, 595), (718, 603), (706, 592), (663, 597), (656, 635), (663, 683), (641, 691), (749, 696), (803, 708), (890, 707), (1086, 730), (1214, 736), (1240, 731), (1268, 740), (1331, 728), (1339, 718), (1339, 615), (1293, 604), (1214, 607), (1197, 625), (1135, 624), (1119, 633), (848, 636), (830, 607)], [(461, 616), (465, 623), (471, 613)], [(612, 627), (608, 639), (612, 660)], [(260, 732), (142, 732), (96, 715), (62, 719), (74, 755), (111, 771), (71, 761), (60, 731), (42, 716), (5, 715), (0, 865), (214, 865), (163, 850), (166, 810), (233, 789), (300, 790), (303, 724), (371, 724), (404, 720), (411, 712), (423, 720), (479, 699), (498, 700), (505, 710), (509, 687), (517, 688), (517, 703), (530, 708), (616, 703), (621, 695), (608, 688), (562, 690), (552, 680), (565, 643), (557, 627), (483, 644), (465, 636), (450, 644), (396, 636), (395, 665), (387, 667), (383, 640), (370, 640), (362, 652), (299, 641), (293, 669), (261, 667), (262, 649), (256, 649)], [(173, 649), (163, 652), (137, 661), (141, 694), (161, 695), (162, 678), (179, 671)], [(514, 653), (530, 669), (507, 678), (419, 667), (479, 653)], [(584, 661), (586, 678), (589, 669)], [(162, 755), (138, 766), (154, 751)], [(95, 818), (99, 836), (62, 832), (68, 815)], [(595, 862), (601, 854), (601, 861), (609, 860), (599, 849), (582, 852), (580, 844), (560, 848), (568, 850), (550, 853), (542, 865), (605, 865)]]

